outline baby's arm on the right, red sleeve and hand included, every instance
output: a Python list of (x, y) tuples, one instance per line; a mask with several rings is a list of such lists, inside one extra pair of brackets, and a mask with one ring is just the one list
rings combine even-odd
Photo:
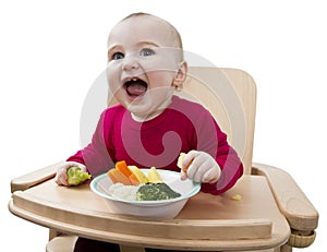
[[(194, 148), (197, 151), (190, 151), (185, 156), (183, 168), (189, 165), (190, 167), (186, 173), (182, 171), (181, 177), (203, 182), (203, 192), (221, 194), (232, 188), (242, 177), (243, 165), (211, 115), (208, 111), (202, 111), (199, 116), (199, 120), (196, 121), (197, 143)], [(193, 161), (194, 166), (191, 167)]]

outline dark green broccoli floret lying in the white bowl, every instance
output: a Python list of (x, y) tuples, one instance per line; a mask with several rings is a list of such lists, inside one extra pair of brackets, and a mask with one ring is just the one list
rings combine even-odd
[(181, 196), (166, 183), (146, 183), (136, 192), (137, 201), (161, 201)]

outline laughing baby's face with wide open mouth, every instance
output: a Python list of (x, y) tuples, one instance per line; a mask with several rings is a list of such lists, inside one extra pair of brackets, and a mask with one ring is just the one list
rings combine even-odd
[(133, 16), (111, 31), (109, 86), (134, 117), (156, 117), (171, 103), (172, 83), (182, 60), (175, 40), (171, 26), (156, 16)]

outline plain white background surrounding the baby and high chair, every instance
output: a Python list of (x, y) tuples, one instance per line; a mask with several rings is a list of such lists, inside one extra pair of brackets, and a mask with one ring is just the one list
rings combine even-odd
[(283, 168), (296, 180), (320, 214), (316, 242), (305, 251), (324, 251), (323, 0), (1, 1), (1, 248), (45, 250), (47, 229), (8, 211), (10, 180), (78, 149), (81, 109), (106, 67), (108, 33), (137, 11), (174, 24), (185, 50), (253, 75), (258, 89), (254, 161)]

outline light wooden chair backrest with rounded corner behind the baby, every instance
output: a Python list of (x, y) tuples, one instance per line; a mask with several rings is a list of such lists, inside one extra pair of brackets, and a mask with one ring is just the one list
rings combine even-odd
[[(175, 94), (211, 112), (240, 155), (244, 172), (251, 173), (256, 108), (252, 76), (238, 69), (191, 67), (182, 91)], [(114, 104), (114, 99), (108, 100), (108, 106)]]

